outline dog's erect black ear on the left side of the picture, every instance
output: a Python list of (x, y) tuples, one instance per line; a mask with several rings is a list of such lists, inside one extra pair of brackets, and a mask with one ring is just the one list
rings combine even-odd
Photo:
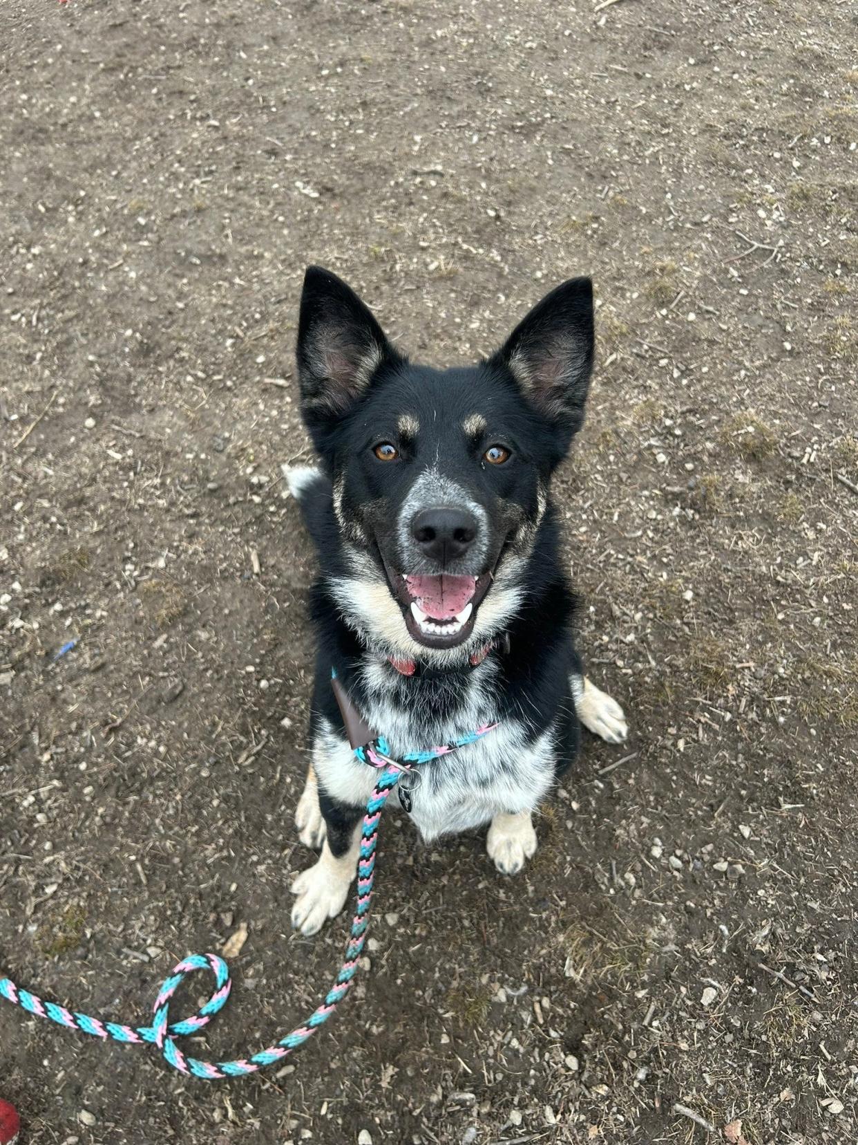
[(297, 325), (301, 403), (311, 418), (342, 413), (366, 389), (386, 360), (399, 355), (345, 283), (308, 267)]

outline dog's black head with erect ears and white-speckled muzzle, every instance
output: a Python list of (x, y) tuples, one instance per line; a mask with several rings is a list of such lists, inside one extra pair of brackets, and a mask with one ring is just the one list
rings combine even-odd
[(593, 286), (573, 278), (479, 365), (395, 349), (355, 292), (311, 267), (297, 365), (304, 421), (333, 481), (345, 618), (394, 656), (450, 663), (521, 603), (551, 472), (583, 419)]

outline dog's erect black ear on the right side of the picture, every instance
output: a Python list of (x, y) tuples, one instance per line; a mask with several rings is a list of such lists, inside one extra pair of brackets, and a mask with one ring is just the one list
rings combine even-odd
[(538, 409), (574, 433), (583, 420), (594, 346), (593, 283), (570, 278), (518, 323), (495, 361)]

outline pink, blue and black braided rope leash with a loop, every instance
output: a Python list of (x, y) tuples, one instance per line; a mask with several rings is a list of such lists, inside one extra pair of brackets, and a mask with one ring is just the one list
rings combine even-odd
[[(334, 985), (325, 995), (324, 1002), (313, 1010), (301, 1026), (296, 1026), (285, 1037), (281, 1037), (276, 1045), (271, 1045), (267, 1050), (260, 1050), (249, 1058), (237, 1058), (235, 1061), (202, 1061), (200, 1058), (192, 1058), (183, 1053), (176, 1045), (175, 1040), (177, 1037), (196, 1034), (204, 1026), (207, 1026), (212, 1018), (223, 1009), (227, 998), (230, 996), (232, 980), (229, 966), (216, 954), (192, 954), (173, 968), (173, 972), (169, 978), (165, 979), (158, 992), (158, 997), (154, 1000), (152, 1008), (154, 1017), (151, 1026), (125, 1026), (121, 1022), (104, 1021), (101, 1018), (92, 1018), (86, 1013), (67, 1010), (56, 1002), (48, 1002), (45, 998), (40, 998), (37, 994), (31, 994), (29, 990), (22, 989), (9, 978), (0, 978), (0, 998), (11, 1002), (13, 1005), (21, 1006), (27, 1013), (35, 1014), (39, 1018), (48, 1018), (58, 1026), (65, 1026), (67, 1029), (77, 1029), (82, 1034), (90, 1034), (93, 1037), (112, 1040), (126, 1045), (151, 1043), (160, 1050), (167, 1064), (173, 1066), (174, 1069), (183, 1074), (192, 1074), (196, 1077), (210, 1080), (219, 1077), (241, 1077), (245, 1074), (255, 1073), (264, 1066), (281, 1061), (294, 1049), (303, 1045), (308, 1039), (312, 1037), (319, 1026), (328, 1020), (348, 994), (352, 979), (357, 973), (358, 960), (364, 949), (366, 932), (370, 925), (370, 900), (372, 899), (373, 882), (375, 878), (375, 845), (379, 838), (379, 820), (381, 819), (381, 812), (388, 800), (388, 796), (399, 782), (403, 772), (411, 771), (413, 763), (424, 763), (454, 751), (456, 748), (472, 743), (485, 735), (486, 732), (491, 732), (493, 727), (494, 725), (483, 725), (453, 743), (439, 748), (429, 748), (421, 752), (412, 752), (404, 757), (403, 763), (390, 759), (387, 742), (382, 736), (373, 740), (372, 743), (355, 749), (355, 755), (358, 759), (378, 768), (381, 774), (367, 800), (360, 828), (357, 906), (355, 917), (351, 921), (351, 932), (345, 947), (345, 957)], [(170, 1000), (185, 977), (197, 970), (210, 970), (214, 973), (214, 993), (193, 1017), (170, 1022)]]

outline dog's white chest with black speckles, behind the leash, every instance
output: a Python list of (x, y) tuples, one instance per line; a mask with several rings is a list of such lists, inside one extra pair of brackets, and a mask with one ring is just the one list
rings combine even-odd
[[(447, 704), (428, 703), (426, 695), (412, 697), (388, 682), (379, 676), (367, 680), (364, 716), (387, 739), (394, 758), (453, 743), (484, 724), (498, 725), (474, 743), (421, 764), (419, 779), (405, 776), (408, 793), (403, 802), (424, 838), (482, 826), (499, 812), (537, 807), (554, 781), (554, 729), (534, 736), (505, 711), (491, 670), (480, 677), (474, 673), (469, 686)], [(373, 769), (356, 760), (329, 727), (316, 749), (315, 765), (325, 789), (344, 802), (363, 802), (374, 783)]]

